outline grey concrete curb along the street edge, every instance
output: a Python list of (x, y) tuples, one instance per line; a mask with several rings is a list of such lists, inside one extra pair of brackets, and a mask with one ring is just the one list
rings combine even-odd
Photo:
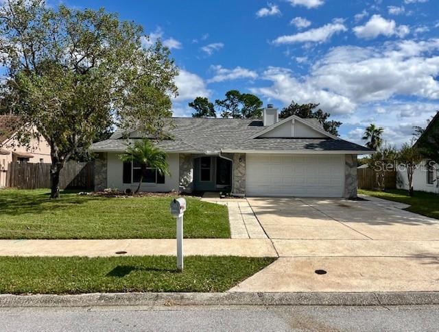
[(358, 293), (94, 293), (0, 295), (0, 307), (184, 305), (437, 305), (439, 292)]

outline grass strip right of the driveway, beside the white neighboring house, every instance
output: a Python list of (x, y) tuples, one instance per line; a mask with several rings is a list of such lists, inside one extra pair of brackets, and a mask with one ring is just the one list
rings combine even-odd
[(414, 196), (410, 197), (407, 190), (385, 190), (385, 192), (372, 190), (358, 190), (359, 194), (375, 196), (379, 199), (388, 199), (410, 205), (407, 211), (422, 214), (423, 216), (439, 219), (439, 195), (430, 192), (414, 192)]

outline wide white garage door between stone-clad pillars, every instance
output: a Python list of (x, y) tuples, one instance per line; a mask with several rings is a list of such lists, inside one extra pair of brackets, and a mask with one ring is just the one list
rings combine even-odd
[(342, 197), (343, 155), (246, 155), (247, 196)]

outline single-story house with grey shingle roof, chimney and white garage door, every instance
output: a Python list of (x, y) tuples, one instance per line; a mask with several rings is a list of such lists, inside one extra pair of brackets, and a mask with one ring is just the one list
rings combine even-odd
[[(271, 105), (262, 120), (172, 118), (173, 140), (157, 143), (167, 152), (171, 176), (150, 170), (141, 190), (230, 190), (237, 196), (357, 196), (357, 155), (372, 150), (327, 133), (316, 119), (278, 120)], [(128, 140), (127, 137), (128, 136)], [(134, 190), (139, 165), (119, 155), (143, 135), (132, 130), (93, 144), (99, 153), (96, 190)]]

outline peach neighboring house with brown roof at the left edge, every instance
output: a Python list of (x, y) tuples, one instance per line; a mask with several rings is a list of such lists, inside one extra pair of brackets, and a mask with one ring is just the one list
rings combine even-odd
[[(20, 144), (13, 129), (18, 121), (18, 116), (0, 116), (0, 188), (6, 186), (9, 163), (51, 162), (50, 147), (43, 137), (31, 135), (29, 146)], [(32, 129), (32, 133), (35, 131), (36, 129)]]

